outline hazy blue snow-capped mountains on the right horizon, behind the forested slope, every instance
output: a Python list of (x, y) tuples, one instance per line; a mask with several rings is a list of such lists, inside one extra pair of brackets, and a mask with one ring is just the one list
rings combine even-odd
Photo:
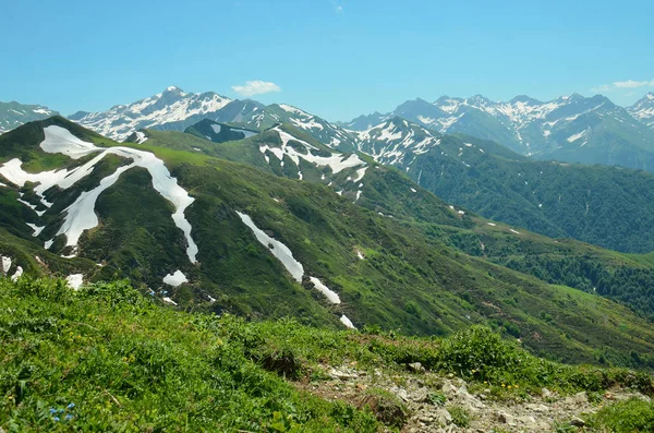
[[(640, 106), (641, 119), (649, 112), (647, 101)], [(528, 96), (506, 103), (480, 95), (444, 96), (433, 104), (423, 99), (407, 101), (386, 115), (392, 116), (431, 131), (493, 140), (537, 158), (654, 169), (653, 131), (600, 95), (585, 98), (573, 94), (547, 103)], [(347, 125), (358, 128), (361, 119)]]

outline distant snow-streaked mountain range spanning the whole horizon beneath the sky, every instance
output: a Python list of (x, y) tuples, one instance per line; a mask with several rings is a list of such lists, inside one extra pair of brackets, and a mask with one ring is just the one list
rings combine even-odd
[[(40, 110), (46, 115), (45, 109)], [(0, 113), (0, 128), (10, 130), (21, 124), (19, 115), (9, 109), (5, 112), (13, 117)], [(124, 141), (138, 129), (184, 131), (203, 119), (256, 131), (289, 123), (330, 147), (352, 151), (361, 147), (355, 131), (370, 130), (395, 117), (433, 132), (492, 140), (535, 159), (654, 170), (654, 93), (627, 108), (604, 96), (586, 98), (578, 94), (546, 103), (528, 96), (506, 103), (481, 95), (443, 96), (434, 103), (419, 98), (386, 115), (375, 112), (350, 122), (331, 123), (284, 104), (265, 106), (250, 99), (232, 100), (213, 92), (185, 93), (171, 86), (149, 98), (102, 112), (78, 111), (69, 119), (117, 141)]]

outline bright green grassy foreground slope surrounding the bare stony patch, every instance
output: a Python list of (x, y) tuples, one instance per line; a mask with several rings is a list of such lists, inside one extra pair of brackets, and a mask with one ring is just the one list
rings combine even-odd
[[(56, 280), (0, 279), (0, 426), (379, 431), (368, 408), (325, 401), (282, 378), (320, 381), (329, 365), (350, 361), (385, 375), (421, 362), (505, 398), (526, 399), (544, 386), (564, 395), (614, 386), (654, 393), (646, 374), (553, 363), (481, 327), (447, 339), (409, 338), (288, 320), (246, 323), (157, 303), (122, 281), (74, 292)], [(620, 420), (616, 412), (607, 423)]]

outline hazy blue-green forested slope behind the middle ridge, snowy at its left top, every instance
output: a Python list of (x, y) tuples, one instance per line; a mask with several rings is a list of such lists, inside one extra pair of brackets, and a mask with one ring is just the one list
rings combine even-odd
[(623, 252), (654, 250), (651, 173), (534, 161), (468, 135), (433, 134), (438, 145), (425, 146), (421, 137), (428, 131), (403, 122), (362, 134), (361, 151), (396, 165), (446, 202), (549, 237)]

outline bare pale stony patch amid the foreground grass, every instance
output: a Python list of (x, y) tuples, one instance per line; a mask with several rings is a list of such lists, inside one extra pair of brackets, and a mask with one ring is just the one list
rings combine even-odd
[[(557, 426), (581, 428), (588, 414), (615, 400), (650, 399), (619, 388), (595, 396), (593, 402), (586, 393), (560, 395), (546, 388), (536, 395), (517, 389), (498, 395), (488, 387), (467, 383), (453, 375), (425, 372), (417, 365), (408, 365), (407, 370), (365, 371), (356, 369), (355, 363), (324, 366), (324, 380), (295, 385), (323, 398), (343, 400), (360, 408), (367, 405), (380, 421), (389, 426), (400, 426), (407, 433), (550, 432)], [(388, 402), (377, 402), (390, 398), (372, 396), (392, 396), (398, 407), (389, 409)], [(397, 417), (389, 418), (389, 413)]]

